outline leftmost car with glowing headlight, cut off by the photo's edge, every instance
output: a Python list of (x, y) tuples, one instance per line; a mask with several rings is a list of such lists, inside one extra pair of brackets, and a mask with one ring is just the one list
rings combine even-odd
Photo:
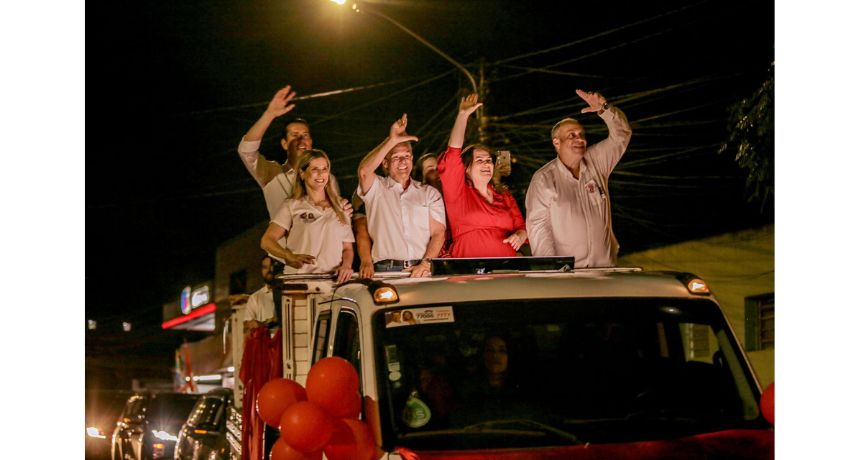
[(87, 460), (110, 459), (111, 432), (132, 394), (123, 390), (88, 390), (84, 396)]

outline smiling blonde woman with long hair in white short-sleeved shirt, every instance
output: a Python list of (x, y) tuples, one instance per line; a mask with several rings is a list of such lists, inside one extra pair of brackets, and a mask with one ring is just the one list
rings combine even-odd
[[(355, 237), (330, 170), (331, 162), (322, 150), (302, 154), (292, 198), (272, 217), (260, 246), (284, 260), (284, 273), (337, 272), (342, 283), (352, 277)], [(286, 238), (286, 247), (278, 244), (280, 238)]]

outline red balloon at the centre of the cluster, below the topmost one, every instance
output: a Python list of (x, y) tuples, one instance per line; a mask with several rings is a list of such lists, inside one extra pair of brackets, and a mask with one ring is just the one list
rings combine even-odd
[(328, 414), (310, 401), (293, 404), (281, 416), (281, 438), (292, 448), (306, 454), (321, 450), (331, 438), (333, 430)]

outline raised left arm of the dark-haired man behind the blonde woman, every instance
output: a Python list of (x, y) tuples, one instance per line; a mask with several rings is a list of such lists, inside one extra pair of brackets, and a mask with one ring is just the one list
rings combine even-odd
[(275, 176), (280, 174), (281, 167), (274, 161), (267, 160), (260, 155), (260, 142), (266, 130), (271, 126), (275, 118), (293, 110), (295, 104), (290, 101), (296, 96), (290, 85), (287, 85), (275, 93), (269, 106), (260, 115), (260, 118), (251, 126), (242, 142), (239, 143), (239, 158), (245, 164), (245, 168), (260, 187), (265, 187)]

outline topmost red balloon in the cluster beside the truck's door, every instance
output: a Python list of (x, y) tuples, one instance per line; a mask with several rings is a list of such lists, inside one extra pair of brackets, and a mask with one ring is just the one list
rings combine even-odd
[(323, 358), (308, 372), (308, 401), (319, 404), (332, 417), (351, 415), (357, 392), (358, 373), (343, 358)]

